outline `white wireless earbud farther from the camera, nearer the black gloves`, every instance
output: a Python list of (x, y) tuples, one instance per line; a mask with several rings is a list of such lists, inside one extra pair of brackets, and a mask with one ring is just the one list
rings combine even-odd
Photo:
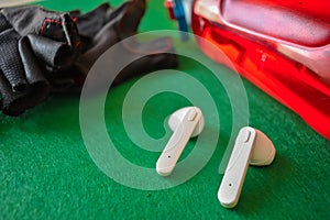
[(197, 107), (186, 107), (170, 114), (168, 124), (174, 133), (156, 163), (156, 170), (160, 175), (172, 174), (187, 142), (190, 138), (200, 134), (204, 123), (204, 116)]

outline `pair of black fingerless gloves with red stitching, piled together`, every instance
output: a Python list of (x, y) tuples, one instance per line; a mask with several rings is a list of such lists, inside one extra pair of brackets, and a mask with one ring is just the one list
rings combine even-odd
[[(1, 9), (2, 112), (19, 116), (51, 92), (81, 87), (89, 69), (106, 50), (136, 33), (144, 11), (145, 0), (132, 0), (119, 8), (102, 4), (86, 14), (47, 11), (41, 7)], [(173, 51), (167, 37), (124, 46), (121, 55), (125, 57), (136, 53), (146, 56), (125, 67), (114, 84), (154, 69), (176, 67)], [(113, 65), (116, 62), (117, 57), (109, 61)], [(110, 69), (109, 74), (116, 73)]]

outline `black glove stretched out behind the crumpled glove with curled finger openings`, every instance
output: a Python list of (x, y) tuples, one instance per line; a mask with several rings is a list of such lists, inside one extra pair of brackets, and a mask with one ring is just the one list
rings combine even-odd
[[(122, 3), (119, 8), (111, 8), (108, 3), (101, 4), (94, 11), (80, 14), (72, 12), (77, 18), (77, 26), (81, 38), (81, 56), (76, 62), (76, 70), (87, 75), (96, 59), (113, 44), (138, 33), (138, 28), (145, 12), (145, 0), (132, 0)], [(174, 54), (172, 40), (161, 37), (152, 42), (140, 43), (130, 41), (121, 44), (121, 50), (114, 57), (109, 57), (109, 63), (118, 59), (130, 59), (136, 55), (145, 55), (127, 66), (114, 79), (112, 85), (121, 84), (134, 76), (156, 69), (177, 67), (177, 56)], [(158, 53), (157, 53), (158, 52)], [(167, 52), (167, 53), (166, 53)], [(108, 66), (110, 65), (108, 64)], [(109, 72), (109, 74), (116, 74)]]

